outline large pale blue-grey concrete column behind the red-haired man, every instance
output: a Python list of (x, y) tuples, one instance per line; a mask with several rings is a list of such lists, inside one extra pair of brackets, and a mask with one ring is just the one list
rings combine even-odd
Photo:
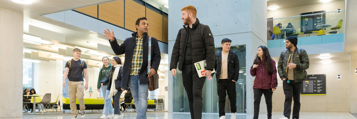
[[(252, 114), (252, 86), (254, 78), (250, 77), (249, 68), (255, 58), (257, 47), (267, 45), (266, 0), (170, 0), (169, 61), (171, 60), (172, 47), (174, 46), (178, 30), (183, 27), (183, 21), (180, 19), (182, 15), (180, 10), (187, 5), (195, 6), (200, 23), (210, 26), (216, 47), (221, 47), (221, 40), (223, 38), (231, 39), (232, 46), (246, 45), (246, 110), (247, 114)], [(172, 79), (172, 75), (169, 73), (169, 112), (172, 112), (172, 97), (175, 95), (173, 94), (174, 91), (170, 90), (173, 86)], [(263, 99), (262, 102), (264, 102)], [(264, 113), (264, 110), (266, 112), (266, 106), (265, 103), (262, 103), (261, 112)]]

